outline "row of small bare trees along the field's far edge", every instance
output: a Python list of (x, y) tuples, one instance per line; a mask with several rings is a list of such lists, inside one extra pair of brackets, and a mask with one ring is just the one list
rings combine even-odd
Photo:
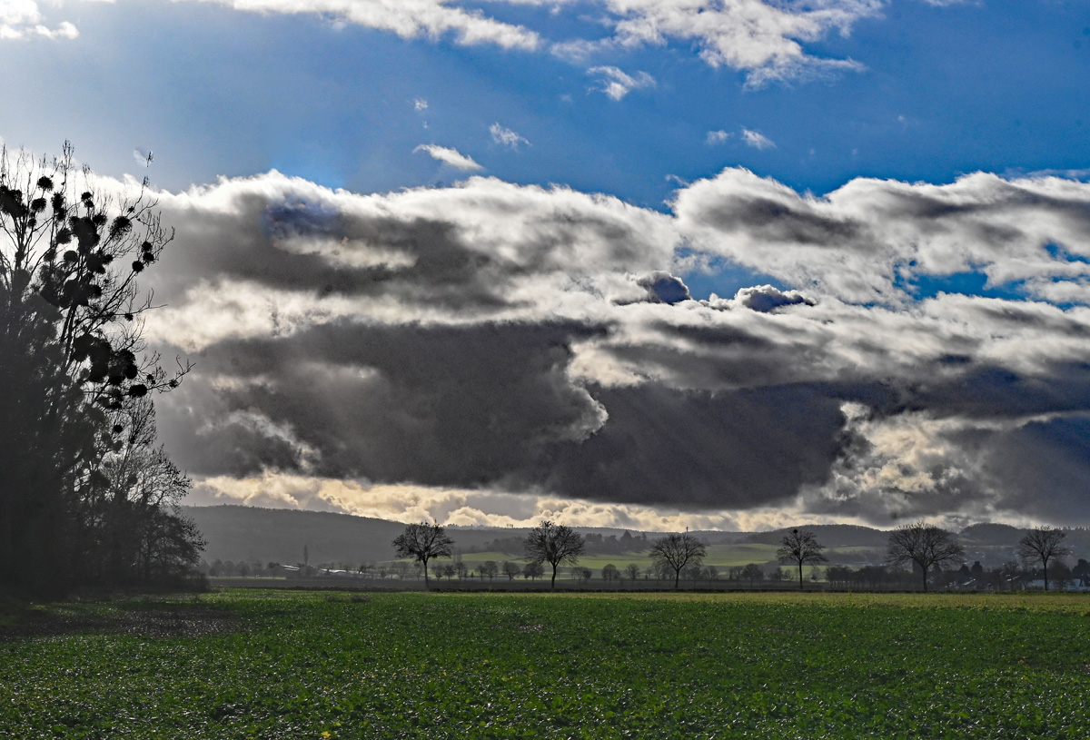
[[(593, 533), (592, 533), (593, 534)], [(886, 533), (880, 563), (859, 567), (829, 562), (825, 545), (815, 534), (792, 529), (779, 535), (772, 563), (748, 562), (717, 567), (707, 562), (708, 544), (695, 534), (675, 533), (659, 537), (631, 536), (635, 544), (616, 562), (608, 556), (588, 555), (588, 537), (576, 530), (544, 521), (519, 541), (521, 557), (492, 558), (489, 553), (462, 554), (448, 529), (434, 523), (410, 524), (393, 539), (397, 560), (348, 566), (301, 562), (247, 563), (217, 560), (205, 563), (213, 577), (289, 575), (316, 579), (375, 579), (387, 586), (425, 587), (435, 583), (481, 587), (525, 587), (541, 580), (555, 587), (595, 589), (698, 587), (698, 589), (843, 589), (843, 590), (1025, 590), (1090, 586), (1090, 566), (1079, 559), (1074, 568), (1067, 533), (1054, 527), (1022, 531), (1012, 543), (1017, 559), (984, 568), (971, 563), (953, 532), (916, 522)], [(508, 538), (512, 539), (512, 538)], [(615, 539), (617, 539), (615, 537)], [(511, 543), (505, 543), (510, 547)], [(481, 557), (484, 555), (485, 557)], [(639, 561), (632, 561), (639, 560)], [(594, 567), (591, 567), (591, 566)]]

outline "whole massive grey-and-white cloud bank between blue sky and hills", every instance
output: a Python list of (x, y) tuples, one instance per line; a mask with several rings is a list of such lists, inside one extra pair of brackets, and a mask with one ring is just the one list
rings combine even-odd
[[(148, 330), (197, 369), (160, 426), (223, 495), (291, 475), (642, 518), (1086, 519), (1090, 185), (815, 197), (728, 169), (663, 214), (271, 172), (161, 205)], [(779, 284), (693, 299), (678, 276), (723, 259)], [(1015, 298), (920, 293), (966, 271)]]

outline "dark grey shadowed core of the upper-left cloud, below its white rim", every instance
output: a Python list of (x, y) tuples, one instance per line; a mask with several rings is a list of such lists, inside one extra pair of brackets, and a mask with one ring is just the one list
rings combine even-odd
[[(180, 228), (184, 248), (168, 254), (177, 281), (165, 281), (172, 295), (201, 274), (315, 296), (411, 293), (452, 310), (504, 303), (495, 282), (509, 266), (467, 248), (449, 222), (351, 218), (326, 204), (269, 204), (256, 194), (240, 195), (235, 206)], [(352, 264), (353, 252), (366, 248), (360, 245), (382, 247), (377, 264)]]

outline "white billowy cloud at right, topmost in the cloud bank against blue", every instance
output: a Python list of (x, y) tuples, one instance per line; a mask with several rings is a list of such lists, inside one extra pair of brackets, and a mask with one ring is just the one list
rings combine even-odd
[[(857, 179), (824, 197), (742, 169), (678, 191), (702, 248), (844, 300), (909, 300), (918, 276), (978, 271), (1030, 295), (1090, 277), (1090, 184), (976, 173), (948, 185)], [(1049, 287), (1064, 283), (1068, 288)]]

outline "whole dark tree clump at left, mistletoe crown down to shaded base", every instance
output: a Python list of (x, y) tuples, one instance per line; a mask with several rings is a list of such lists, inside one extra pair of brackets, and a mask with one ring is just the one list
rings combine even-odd
[(153, 305), (137, 278), (172, 238), (146, 181), (110, 196), (68, 144), (52, 161), (0, 151), (4, 591), (124, 584), (199, 554), (175, 506), (189, 480), (154, 446), (150, 399), (190, 366), (165, 371), (142, 339)]

